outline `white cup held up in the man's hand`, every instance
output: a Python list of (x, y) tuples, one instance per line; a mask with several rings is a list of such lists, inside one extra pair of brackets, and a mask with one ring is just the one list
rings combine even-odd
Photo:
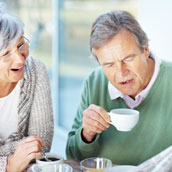
[(119, 131), (131, 131), (139, 120), (139, 111), (133, 109), (113, 109), (108, 114)]

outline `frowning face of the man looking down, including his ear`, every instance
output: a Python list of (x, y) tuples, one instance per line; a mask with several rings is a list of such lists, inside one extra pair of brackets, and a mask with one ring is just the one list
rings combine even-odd
[(147, 86), (149, 49), (143, 52), (129, 31), (120, 31), (95, 54), (111, 84), (123, 94), (134, 98)]

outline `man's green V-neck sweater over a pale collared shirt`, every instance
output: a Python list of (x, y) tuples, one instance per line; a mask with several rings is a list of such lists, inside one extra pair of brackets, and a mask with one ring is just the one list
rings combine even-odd
[(69, 132), (66, 153), (68, 159), (105, 157), (114, 164), (138, 165), (172, 144), (172, 64), (162, 62), (159, 75), (146, 99), (135, 109), (139, 122), (130, 132), (117, 131), (110, 126), (97, 134), (92, 143), (81, 138), (83, 111), (96, 104), (107, 112), (129, 108), (123, 99), (111, 100), (108, 80), (102, 69), (94, 70), (85, 80), (81, 102), (72, 130)]

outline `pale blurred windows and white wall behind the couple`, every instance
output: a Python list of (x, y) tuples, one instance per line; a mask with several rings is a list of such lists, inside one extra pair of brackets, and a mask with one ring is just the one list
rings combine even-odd
[(31, 41), (30, 54), (47, 66), (55, 119), (51, 152), (64, 157), (67, 133), (79, 104), (83, 79), (98, 66), (90, 58), (89, 34), (93, 21), (100, 14), (112, 10), (131, 12), (148, 33), (153, 52), (164, 59), (172, 55), (166, 41), (166, 37), (171, 38), (167, 25), (170, 30), (172, 24), (163, 20), (171, 16), (170, 0), (165, 3), (169, 5), (160, 0), (1, 1), (25, 23), (25, 36)]

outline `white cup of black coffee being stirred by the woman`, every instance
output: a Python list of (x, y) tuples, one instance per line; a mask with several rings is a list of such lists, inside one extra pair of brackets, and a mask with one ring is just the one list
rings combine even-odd
[[(42, 172), (55, 172), (59, 164), (63, 163), (63, 157), (55, 153), (45, 153), (47, 158), (52, 161), (46, 161), (44, 157), (36, 159), (37, 167)], [(57, 159), (57, 160), (55, 160)]]

